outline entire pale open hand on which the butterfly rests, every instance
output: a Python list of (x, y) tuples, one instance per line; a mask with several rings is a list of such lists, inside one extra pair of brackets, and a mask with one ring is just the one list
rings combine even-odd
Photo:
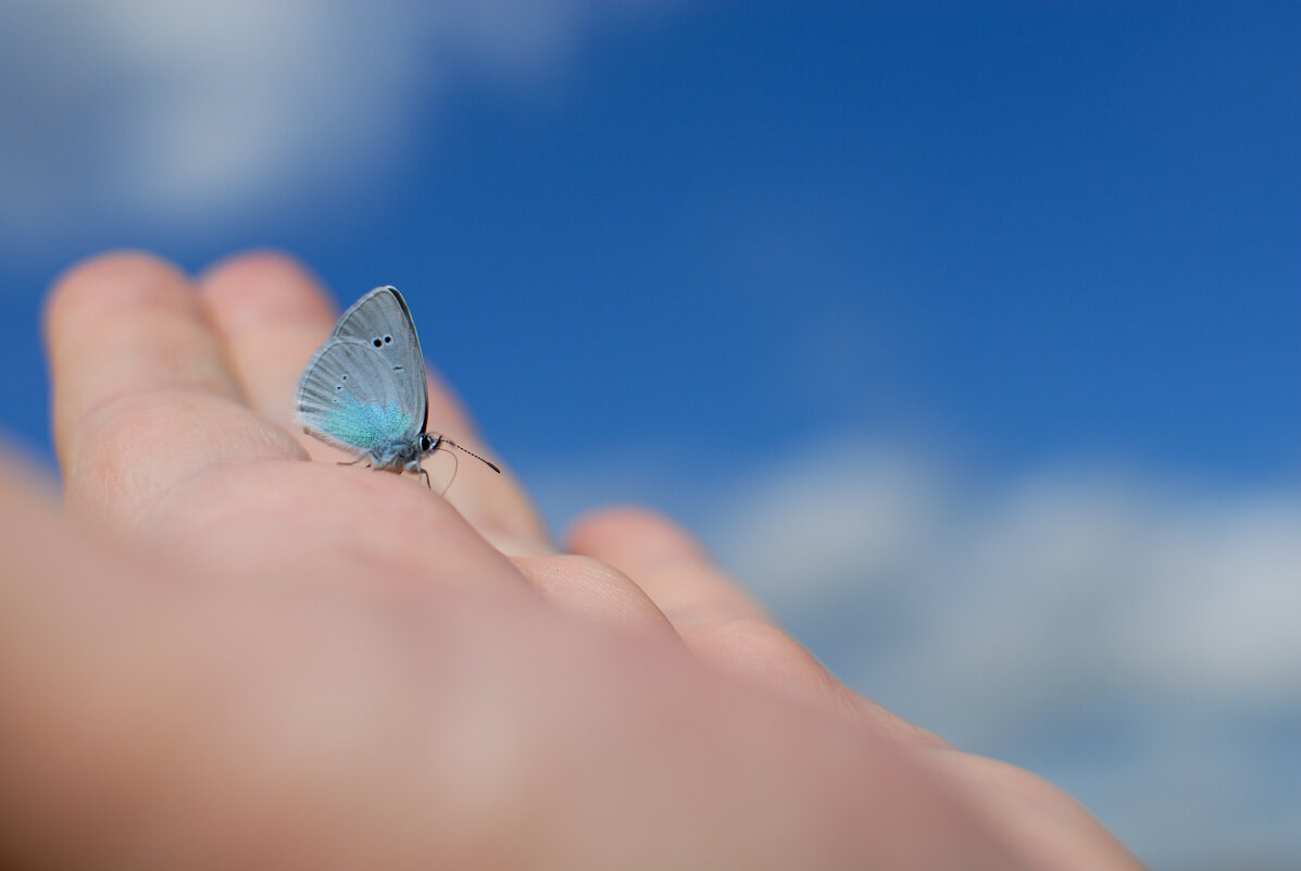
[(56, 283), (62, 504), (0, 463), (0, 864), (1140, 867), (848, 690), (669, 519), (557, 543), (509, 463), (445, 499), (338, 466), (291, 417), (336, 314), (275, 254)]

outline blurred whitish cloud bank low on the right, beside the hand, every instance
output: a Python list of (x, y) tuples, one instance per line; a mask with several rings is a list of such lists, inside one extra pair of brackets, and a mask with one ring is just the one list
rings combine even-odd
[[(543, 499), (630, 477), (569, 470)], [(1085, 462), (980, 479), (853, 437), (706, 482), (640, 492), (855, 689), (1062, 784), (1155, 867), (1301, 855), (1301, 784), (1272, 773), (1301, 763), (1301, 493)]]

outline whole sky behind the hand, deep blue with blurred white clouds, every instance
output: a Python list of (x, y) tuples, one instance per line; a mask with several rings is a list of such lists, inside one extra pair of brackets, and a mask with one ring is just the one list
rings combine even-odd
[(68, 263), (282, 247), (554, 521), (692, 521), (1157, 867), (1301, 857), (1301, 7), (367, 9), (0, 12), (8, 439)]

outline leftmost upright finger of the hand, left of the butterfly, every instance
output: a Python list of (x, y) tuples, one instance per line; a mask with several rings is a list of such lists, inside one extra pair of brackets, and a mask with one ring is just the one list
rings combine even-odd
[(55, 283), (46, 333), (74, 504), (130, 523), (180, 478), (301, 456), (243, 404), (189, 281), (163, 260), (116, 253), (74, 267)]

